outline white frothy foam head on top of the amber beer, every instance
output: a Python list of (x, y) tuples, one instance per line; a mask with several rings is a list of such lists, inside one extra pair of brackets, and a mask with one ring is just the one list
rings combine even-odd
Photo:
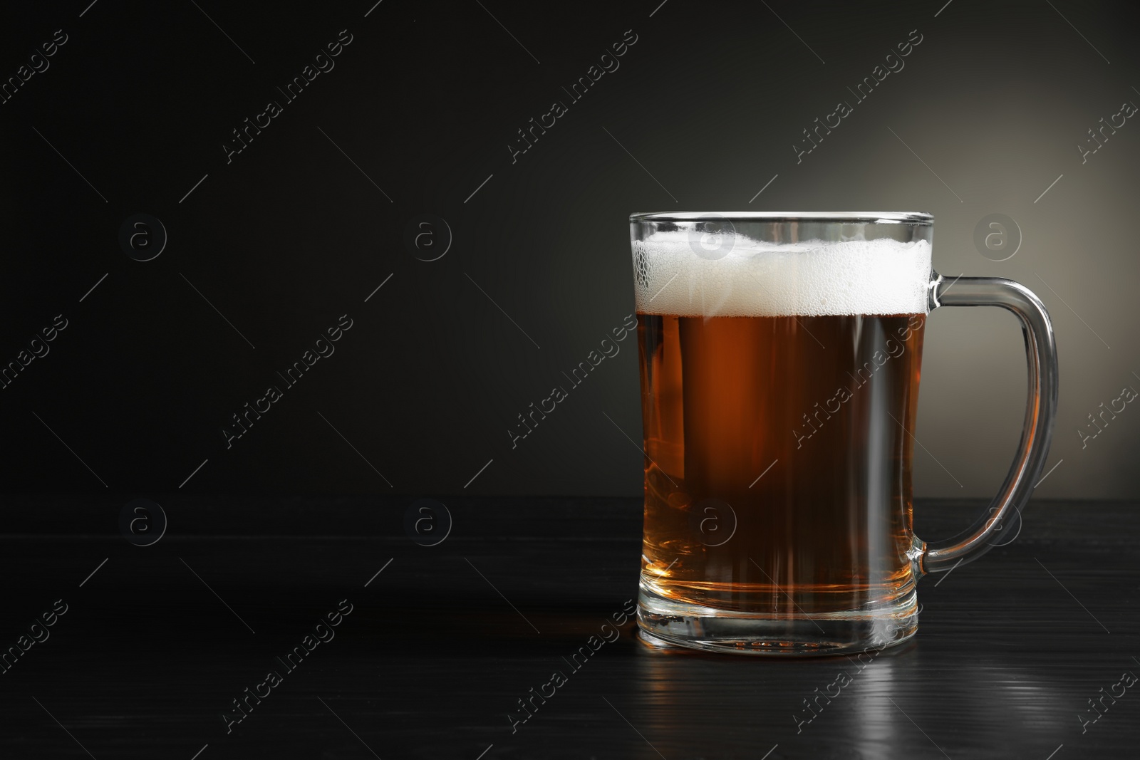
[(702, 246), (692, 232), (670, 230), (635, 240), (633, 254), (635, 297), (642, 313), (819, 317), (927, 312), (930, 244), (926, 240), (764, 243), (736, 235), (706, 239)]

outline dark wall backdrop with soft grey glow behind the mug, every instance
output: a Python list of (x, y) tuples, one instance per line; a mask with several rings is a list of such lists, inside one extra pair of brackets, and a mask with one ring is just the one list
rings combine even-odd
[[(0, 105), (0, 362), (68, 320), (0, 391), (6, 492), (169, 492), (207, 460), (185, 491), (433, 496), (492, 460), (466, 493), (636, 496), (642, 455), (605, 417), (640, 438), (634, 340), (507, 434), (633, 311), (627, 215), (885, 210), (935, 214), (939, 271), (1049, 307), (1061, 464), (1040, 496), (1140, 497), (1140, 409), (1076, 432), (1140, 389), (1140, 125), (1076, 149), (1140, 103), (1130, 3), (89, 2), (0, 14), (0, 77), (68, 35)], [(230, 130), (344, 28), (335, 68), (227, 164)], [(912, 30), (903, 71), (797, 163)], [(512, 163), (553, 100), (569, 112)], [(135, 213), (169, 234), (153, 261), (119, 245)], [(433, 262), (405, 243), (424, 213), (454, 236)], [(991, 213), (1024, 236), (1004, 262), (972, 242)], [(344, 313), (335, 353), (227, 449), (230, 415)], [(1024, 414), (1015, 318), (937, 311), (923, 369), (917, 495), (992, 493)]]

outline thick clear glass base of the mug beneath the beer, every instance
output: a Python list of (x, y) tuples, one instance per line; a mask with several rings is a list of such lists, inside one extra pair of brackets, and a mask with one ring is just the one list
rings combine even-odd
[(645, 582), (637, 596), (637, 626), (650, 645), (767, 656), (883, 649), (914, 636), (918, 613), (913, 586), (887, 604), (812, 615), (716, 610), (669, 599)]

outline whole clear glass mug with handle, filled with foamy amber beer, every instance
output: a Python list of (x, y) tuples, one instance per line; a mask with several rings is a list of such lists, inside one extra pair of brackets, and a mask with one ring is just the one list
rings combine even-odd
[[(881, 649), (915, 583), (991, 548), (1049, 452), (1057, 354), (1041, 301), (931, 268), (923, 213), (630, 216), (644, 427), (638, 626), (747, 654)], [(964, 538), (927, 545), (911, 463), (927, 314), (1021, 321), (1028, 409), (1012, 468)]]

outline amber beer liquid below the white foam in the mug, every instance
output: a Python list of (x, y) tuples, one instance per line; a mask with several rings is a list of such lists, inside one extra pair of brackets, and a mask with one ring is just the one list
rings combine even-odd
[(643, 588), (793, 616), (910, 593), (923, 322), (638, 313)]

